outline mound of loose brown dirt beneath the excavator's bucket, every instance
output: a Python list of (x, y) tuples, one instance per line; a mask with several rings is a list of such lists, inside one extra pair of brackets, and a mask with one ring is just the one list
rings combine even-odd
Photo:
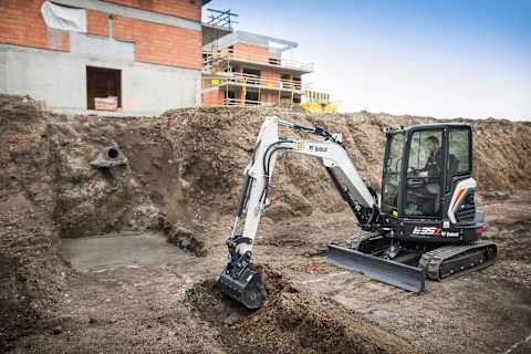
[(262, 278), (268, 299), (256, 312), (227, 299), (214, 281), (188, 291), (229, 353), (420, 353), (339, 303), (291, 287), (271, 266)]

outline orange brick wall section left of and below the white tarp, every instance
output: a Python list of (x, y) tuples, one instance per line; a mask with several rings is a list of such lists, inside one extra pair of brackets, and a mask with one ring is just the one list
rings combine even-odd
[(46, 27), (41, 15), (43, 2), (0, 0), (0, 43), (69, 51), (69, 33)]

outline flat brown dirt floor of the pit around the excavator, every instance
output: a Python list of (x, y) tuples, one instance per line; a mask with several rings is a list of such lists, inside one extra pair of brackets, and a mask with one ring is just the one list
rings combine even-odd
[[(426, 353), (503, 353), (531, 333), (529, 253), (511, 256), (521, 244), (514, 237), (531, 239), (529, 229), (513, 232), (518, 221), (529, 222), (530, 206), (523, 197), (491, 198), (486, 210), (488, 223), (496, 225), (488, 236), (500, 248), (496, 266), (428, 282), (420, 295), (324, 262), (320, 244), (352, 228), (346, 214), (331, 215), (326, 236), (310, 242), (294, 241), (315, 232), (310, 220), (266, 222), (256, 260), (272, 275), (266, 277), (268, 304), (258, 312), (211, 287), (225, 261), (225, 238), (215, 232), (229, 228), (227, 219), (209, 231), (216, 241), (206, 258), (74, 273), (53, 320), (12, 353), (406, 353), (414, 346)], [(278, 235), (290, 246), (268, 246)]]

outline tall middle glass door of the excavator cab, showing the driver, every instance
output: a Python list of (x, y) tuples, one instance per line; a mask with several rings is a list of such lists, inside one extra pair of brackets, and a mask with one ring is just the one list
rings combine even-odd
[(442, 127), (409, 132), (403, 209), (406, 218), (441, 218), (444, 146)]

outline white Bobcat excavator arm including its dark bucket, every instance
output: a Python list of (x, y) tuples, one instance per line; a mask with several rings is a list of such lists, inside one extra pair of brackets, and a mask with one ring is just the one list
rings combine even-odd
[[(280, 138), (279, 125), (316, 135), (321, 139)], [(268, 205), (275, 158), (280, 152), (316, 157), (363, 229), (375, 229), (379, 216), (376, 194), (363, 181), (339, 135), (332, 135), (320, 127), (285, 122), (275, 116), (268, 117), (260, 128), (252, 158), (244, 170), (235, 223), (227, 241), (229, 262), (218, 280), (218, 285), (226, 294), (249, 309), (259, 308), (266, 299), (260, 275), (251, 268), (251, 257), (260, 216)], [(241, 227), (243, 216), (244, 222)]]

